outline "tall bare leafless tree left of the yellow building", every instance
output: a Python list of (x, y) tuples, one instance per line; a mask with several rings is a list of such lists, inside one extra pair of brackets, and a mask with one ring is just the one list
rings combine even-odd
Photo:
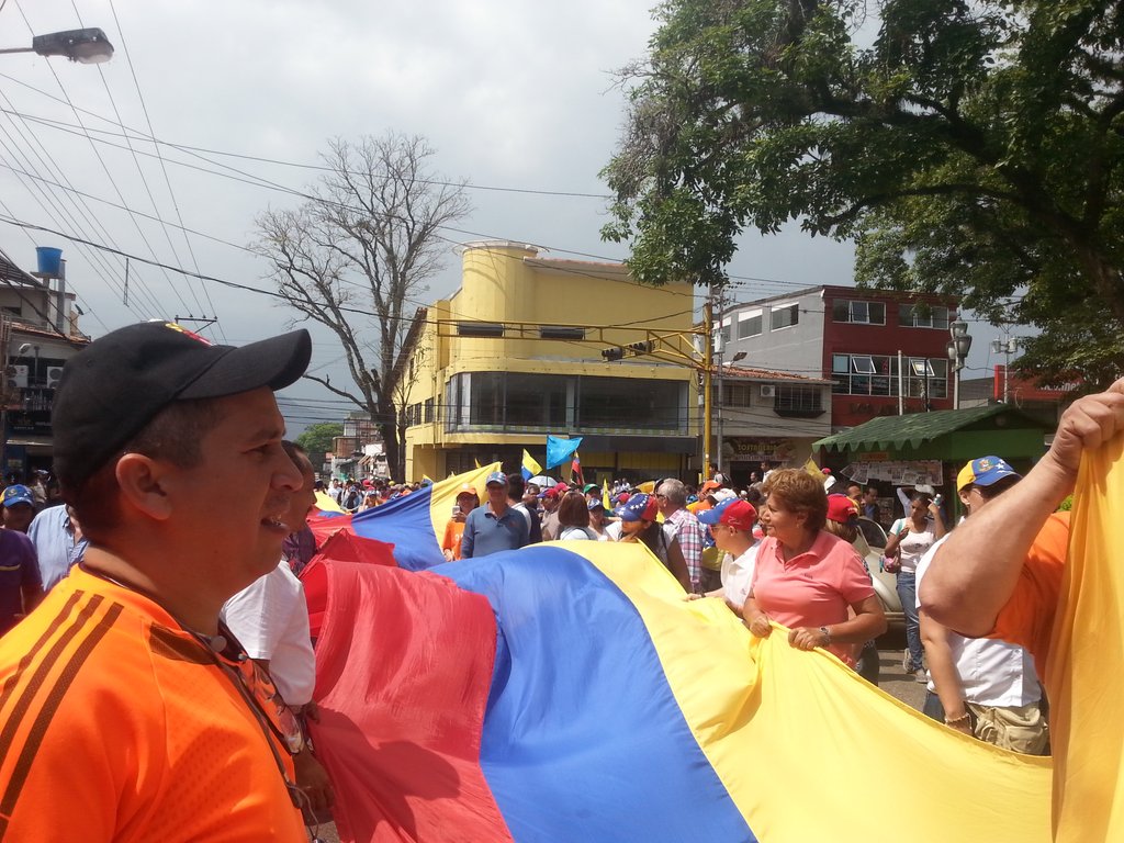
[[(266, 210), (256, 251), (300, 316), (339, 339), (352, 384), (309, 380), (346, 398), (378, 426), (391, 477), (405, 468), (405, 409), (423, 350), (425, 308), (413, 297), (442, 265), (441, 229), (469, 212), (464, 184), (428, 169), (434, 151), (418, 136), (333, 140), (327, 172), (294, 210)], [(413, 311), (413, 312), (411, 312)]]

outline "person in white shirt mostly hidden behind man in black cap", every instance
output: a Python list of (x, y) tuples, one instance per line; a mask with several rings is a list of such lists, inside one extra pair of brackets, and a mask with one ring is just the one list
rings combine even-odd
[[(305, 478), (305, 484), (292, 496), (283, 517), (285, 526), (296, 533), (308, 525), (308, 514), (316, 502), (316, 474), (300, 445), (283, 442), (282, 446)], [(289, 563), (282, 560), (268, 574), (227, 600), (223, 619), (250, 658), (269, 671), (292, 715), (316, 720), (312, 701), (316, 655), (309, 633), (308, 604), (305, 587)], [(297, 786), (308, 795), (312, 809), (320, 813), (330, 808), (335, 799), (332, 782), (307, 744), (293, 755), (293, 765)]]

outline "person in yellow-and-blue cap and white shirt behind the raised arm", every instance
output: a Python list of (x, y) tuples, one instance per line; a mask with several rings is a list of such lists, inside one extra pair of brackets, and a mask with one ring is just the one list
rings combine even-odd
[[(999, 468), (977, 474), (969, 463), (957, 479), (960, 500), (969, 515), (1019, 479), (1003, 460), (988, 460), (989, 465)], [(941, 538), (918, 563), (918, 588), (943, 543)], [(966, 638), (928, 617), (919, 600), (917, 608), (930, 672), (925, 714), (996, 746), (1043, 754), (1049, 736), (1041, 710), (1042, 687), (1030, 653), (1005, 641)]]

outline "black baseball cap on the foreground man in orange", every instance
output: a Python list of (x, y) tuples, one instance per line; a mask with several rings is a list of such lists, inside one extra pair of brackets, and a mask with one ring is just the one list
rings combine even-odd
[(51, 415), (55, 473), (78, 489), (173, 401), (283, 389), (311, 354), (303, 329), (238, 348), (170, 321), (110, 332), (63, 366)]

